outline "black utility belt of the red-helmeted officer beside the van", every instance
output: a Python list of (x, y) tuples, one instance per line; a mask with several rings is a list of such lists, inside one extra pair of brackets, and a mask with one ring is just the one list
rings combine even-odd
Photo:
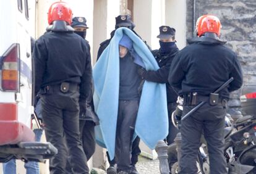
[(47, 85), (44, 88), (41, 89), (41, 94), (51, 94), (54, 92), (61, 91), (62, 93), (67, 93), (68, 91), (78, 91), (79, 85), (77, 83), (68, 83), (68, 82), (62, 82), (58, 85)]

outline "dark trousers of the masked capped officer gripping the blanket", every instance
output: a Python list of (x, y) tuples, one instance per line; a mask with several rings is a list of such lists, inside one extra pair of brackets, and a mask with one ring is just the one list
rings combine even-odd
[(168, 136), (166, 137), (167, 144), (174, 143), (174, 139), (176, 138), (177, 133), (179, 133), (179, 130), (173, 125), (173, 122), (171, 121), (171, 114), (174, 110), (176, 110), (177, 103), (171, 102), (168, 103), (168, 122), (169, 122), (169, 130), (168, 130)]

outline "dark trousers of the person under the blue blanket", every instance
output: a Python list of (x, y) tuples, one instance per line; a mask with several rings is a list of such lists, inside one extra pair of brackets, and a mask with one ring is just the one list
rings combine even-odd
[(116, 128), (116, 163), (118, 170), (130, 173), (132, 136), (139, 101), (119, 101)]

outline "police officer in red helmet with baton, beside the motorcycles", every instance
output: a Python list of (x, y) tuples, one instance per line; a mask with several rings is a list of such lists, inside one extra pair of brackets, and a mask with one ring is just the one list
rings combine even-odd
[[(229, 93), (241, 88), (242, 71), (236, 54), (220, 40), (220, 20), (213, 15), (203, 15), (197, 20), (197, 38), (189, 41), (174, 58), (169, 73), (169, 83), (184, 96), (183, 115), (199, 102), (200, 109), (181, 123), (181, 171), (197, 173), (197, 151), (202, 132), (207, 140), (210, 173), (227, 173), (224, 151), (225, 102)], [(228, 87), (213, 93), (229, 78)]]

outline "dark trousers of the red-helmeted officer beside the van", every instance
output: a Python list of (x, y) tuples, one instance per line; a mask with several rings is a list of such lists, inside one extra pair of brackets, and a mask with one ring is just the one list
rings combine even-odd
[(70, 154), (70, 165), (75, 173), (88, 173), (79, 134), (78, 89), (43, 94), (41, 102), (46, 139), (58, 149), (58, 154), (50, 159), (50, 173), (65, 173), (67, 154)]

